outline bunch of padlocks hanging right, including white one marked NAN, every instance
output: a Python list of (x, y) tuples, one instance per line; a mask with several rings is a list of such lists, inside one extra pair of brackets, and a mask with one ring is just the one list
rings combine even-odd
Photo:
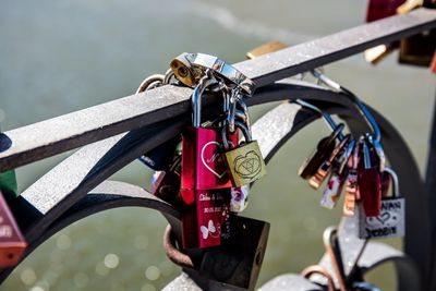
[[(344, 135), (343, 123), (337, 124), (327, 112), (298, 100), (302, 107), (320, 113), (332, 131), (318, 142), (312, 155), (303, 162), (299, 170), (300, 177), (307, 180), (315, 190), (328, 177), (320, 205), (329, 209), (336, 206), (344, 189), (342, 213), (343, 216), (359, 220), (359, 238), (403, 237), (404, 198), (399, 192), (397, 174), (386, 167), (377, 122), (354, 94), (320, 71), (313, 73), (322, 83), (348, 96), (373, 132), (359, 138), (351, 134)], [(393, 184), (391, 195), (388, 193), (390, 181)]]

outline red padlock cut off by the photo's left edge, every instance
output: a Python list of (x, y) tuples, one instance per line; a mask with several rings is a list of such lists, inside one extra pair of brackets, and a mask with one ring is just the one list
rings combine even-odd
[(0, 267), (19, 264), (26, 247), (27, 243), (0, 190)]

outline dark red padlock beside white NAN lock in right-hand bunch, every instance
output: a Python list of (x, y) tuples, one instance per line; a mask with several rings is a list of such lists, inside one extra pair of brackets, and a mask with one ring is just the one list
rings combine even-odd
[(382, 182), (378, 156), (368, 146), (366, 140), (362, 144), (363, 156), (359, 167), (359, 193), (366, 216), (378, 216), (382, 203)]

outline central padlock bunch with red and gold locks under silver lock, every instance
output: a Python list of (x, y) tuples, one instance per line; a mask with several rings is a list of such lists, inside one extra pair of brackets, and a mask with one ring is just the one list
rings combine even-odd
[[(170, 66), (166, 76), (152, 76), (138, 92), (173, 78), (192, 87), (192, 125), (182, 131), (181, 147), (175, 137), (142, 159), (158, 170), (153, 193), (182, 213), (183, 248), (217, 246), (231, 237), (229, 217), (246, 207), (250, 184), (266, 173), (244, 102), (255, 84), (232, 65), (204, 53), (182, 53)], [(204, 110), (207, 118), (202, 112), (206, 95), (218, 97), (210, 101), (220, 108)], [(166, 160), (165, 153), (174, 154)], [(159, 160), (166, 161), (157, 166)]]

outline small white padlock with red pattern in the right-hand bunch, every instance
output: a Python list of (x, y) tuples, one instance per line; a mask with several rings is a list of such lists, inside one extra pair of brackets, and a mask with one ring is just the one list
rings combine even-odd
[(344, 153), (332, 166), (334, 170), (331, 171), (330, 178), (328, 179), (323, 197), (320, 199), (320, 205), (325, 208), (332, 209), (339, 201), (348, 174), (348, 168), (346, 167), (346, 163), (353, 151), (354, 144), (355, 141), (351, 140), (348, 143)]

